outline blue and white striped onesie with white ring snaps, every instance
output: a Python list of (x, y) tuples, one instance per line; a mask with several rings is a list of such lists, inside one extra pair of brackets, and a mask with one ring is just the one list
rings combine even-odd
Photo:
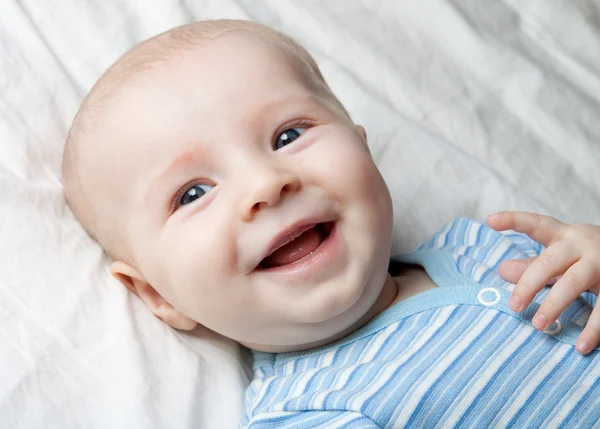
[(243, 428), (600, 428), (600, 349), (575, 350), (596, 296), (546, 332), (508, 307), (500, 261), (542, 246), (461, 218), (390, 262), (425, 268), (437, 288), (401, 301), (334, 343), (253, 351)]

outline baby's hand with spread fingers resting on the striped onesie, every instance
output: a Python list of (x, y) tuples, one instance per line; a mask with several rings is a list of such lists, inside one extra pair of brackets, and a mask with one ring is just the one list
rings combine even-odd
[[(546, 246), (539, 256), (504, 261), (498, 268), (502, 278), (516, 283), (508, 302), (513, 311), (523, 311), (544, 286), (554, 283), (533, 318), (537, 329), (548, 329), (581, 293), (598, 295), (600, 226), (567, 225), (550, 216), (509, 211), (490, 215), (487, 222), (496, 231), (522, 232)], [(581, 354), (589, 353), (600, 342), (599, 307), (595, 306), (577, 340)]]

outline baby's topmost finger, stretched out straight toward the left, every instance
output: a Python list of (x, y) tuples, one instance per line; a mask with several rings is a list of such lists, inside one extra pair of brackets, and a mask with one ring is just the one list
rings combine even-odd
[(490, 227), (496, 231), (513, 231), (527, 234), (529, 237), (550, 246), (564, 237), (568, 225), (551, 216), (529, 212), (504, 211), (491, 214), (487, 217)]

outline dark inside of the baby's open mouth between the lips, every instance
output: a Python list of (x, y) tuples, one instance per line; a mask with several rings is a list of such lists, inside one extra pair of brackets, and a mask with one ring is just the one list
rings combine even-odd
[(259, 268), (274, 268), (292, 264), (314, 252), (329, 236), (333, 222), (318, 223), (298, 237), (284, 243), (264, 258)]

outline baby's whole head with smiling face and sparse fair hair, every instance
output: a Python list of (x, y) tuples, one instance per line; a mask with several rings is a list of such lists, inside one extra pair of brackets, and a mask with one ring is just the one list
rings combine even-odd
[(77, 113), (63, 182), (113, 275), (175, 328), (299, 349), (356, 323), (387, 278), (392, 205), (364, 129), (302, 47), (255, 23), (120, 58)]

